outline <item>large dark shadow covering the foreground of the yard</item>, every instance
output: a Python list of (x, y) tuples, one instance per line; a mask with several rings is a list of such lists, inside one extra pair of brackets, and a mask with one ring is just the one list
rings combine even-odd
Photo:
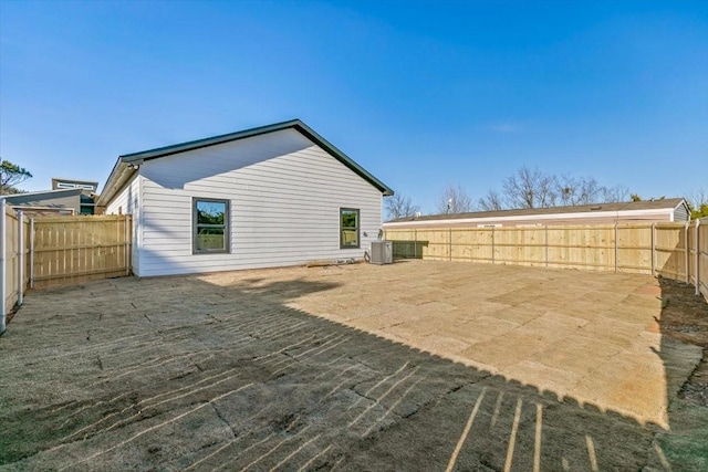
[(686, 465), (657, 426), (285, 306), (334, 286), (264, 274), (32, 293), (0, 340), (0, 469)]

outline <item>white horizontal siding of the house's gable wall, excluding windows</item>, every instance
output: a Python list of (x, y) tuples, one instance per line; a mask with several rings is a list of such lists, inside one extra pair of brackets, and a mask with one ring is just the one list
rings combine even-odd
[[(292, 129), (148, 160), (140, 175), (143, 276), (358, 259), (382, 223), (381, 191)], [(191, 253), (194, 197), (229, 200), (229, 254)], [(340, 249), (340, 208), (361, 210), (361, 249)]]

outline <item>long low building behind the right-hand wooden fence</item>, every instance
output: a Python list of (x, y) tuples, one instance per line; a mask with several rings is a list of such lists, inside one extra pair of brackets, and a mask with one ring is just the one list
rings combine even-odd
[(614, 224), (690, 220), (683, 198), (596, 203), (577, 207), (532, 208), (525, 210), (478, 211), (398, 218), (384, 223), (384, 229), (434, 227), (532, 227), (544, 224)]

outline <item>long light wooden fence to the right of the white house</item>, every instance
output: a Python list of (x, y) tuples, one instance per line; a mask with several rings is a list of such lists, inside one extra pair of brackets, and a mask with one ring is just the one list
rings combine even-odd
[(660, 275), (708, 300), (708, 219), (592, 227), (386, 229), (394, 258)]

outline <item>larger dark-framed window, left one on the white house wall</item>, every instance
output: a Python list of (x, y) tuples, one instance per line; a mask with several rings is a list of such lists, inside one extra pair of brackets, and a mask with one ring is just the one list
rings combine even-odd
[(210, 198), (192, 200), (192, 252), (229, 252), (229, 201)]

